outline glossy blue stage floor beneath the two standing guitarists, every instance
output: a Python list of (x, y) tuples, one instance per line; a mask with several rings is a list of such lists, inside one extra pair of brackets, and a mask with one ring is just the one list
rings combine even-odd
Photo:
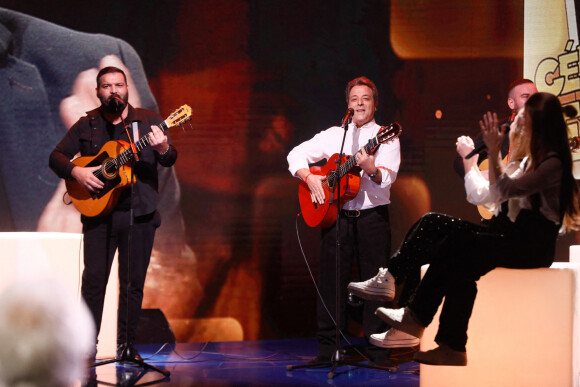
[[(352, 339), (353, 347), (362, 344)], [(392, 369), (376, 370), (341, 366), (329, 379), (330, 368), (287, 370), (305, 364), (316, 355), (315, 339), (230, 341), (161, 345), (138, 345), (147, 364), (167, 370), (145, 372), (132, 364), (112, 363), (91, 368), (89, 386), (419, 386), (419, 364), (405, 362)], [(350, 346), (345, 347), (348, 353)], [(346, 360), (355, 357), (346, 356)], [(362, 364), (368, 364), (362, 363)]]

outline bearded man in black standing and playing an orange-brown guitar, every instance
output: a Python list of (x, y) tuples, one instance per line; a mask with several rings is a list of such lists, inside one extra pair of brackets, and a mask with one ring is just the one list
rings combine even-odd
[[(107, 279), (118, 249), (117, 356), (140, 359), (133, 344), (155, 231), (161, 224), (157, 212), (157, 165), (171, 167), (177, 159), (177, 152), (159, 128), (164, 123), (159, 114), (128, 104), (129, 86), (121, 69), (101, 69), (97, 75), (96, 93), (101, 106), (87, 112), (68, 130), (52, 151), (49, 165), (59, 177), (71, 183), (70, 187), (75, 187), (75, 195), (85, 195), (94, 201), (107, 200), (105, 209), (98, 214), (86, 215), (77, 206), (83, 213), (81, 222), (84, 234), (81, 295), (95, 320), (98, 335)], [(143, 138), (138, 142), (140, 136)], [(148, 142), (150, 146), (134, 149), (136, 155), (132, 171), (121, 168), (113, 173), (106, 167), (116, 156), (111, 153), (129, 149), (130, 143), (142, 145), (143, 142)], [(109, 149), (109, 145), (116, 149)], [(94, 156), (93, 162), (86, 165), (71, 162), (78, 153), (83, 156), (79, 159)], [(130, 187), (132, 189), (117, 189), (121, 181), (130, 185), (131, 179), (134, 181), (133, 187)], [(110, 195), (111, 192), (114, 193)], [(72, 198), (70, 188), (69, 195)]]

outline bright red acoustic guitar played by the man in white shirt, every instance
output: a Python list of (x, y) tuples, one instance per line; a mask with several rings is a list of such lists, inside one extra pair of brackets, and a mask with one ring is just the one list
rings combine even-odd
[[(393, 141), (401, 134), (401, 131), (401, 125), (396, 122), (381, 127), (377, 135), (371, 138), (365, 145), (365, 151), (368, 154), (374, 153), (380, 144), (386, 144)], [(341, 205), (354, 199), (360, 188), (360, 168), (356, 166), (355, 158), (352, 156), (343, 156), (340, 160), (341, 165), (338, 167), (338, 170), (336, 170), (334, 168), (336, 168), (337, 159), (338, 154), (334, 154), (324, 166), (310, 168), (311, 173), (326, 176), (326, 178), (322, 180), (322, 188), (324, 188), (323, 204), (312, 202), (310, 190), (305, 182), (301, 181), (298, 187), (298, 199), (300, 201), (302, 217), (310, 227), (327, 228), (332, 226), (336, 221), (336, 215), (338, 214), (338, 190), (335, 190), (334, 192), (332, 205), (329, 203), (334, 183), (338, 179), (340, 179)]]

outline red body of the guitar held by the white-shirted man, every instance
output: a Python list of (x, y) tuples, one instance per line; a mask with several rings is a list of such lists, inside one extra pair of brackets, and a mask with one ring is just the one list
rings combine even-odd
[[(345, 156), (341, 160), (344, 163), (351, 156)], [(311, 167), (310, 172), (314, 175), (327, 176), (336, 169), (336, 160), (338, 154), (333, 155), (328, 162), (322, 167)], [(360, 168), (355, 167), (347, 172), (340, 179), (340, 205), (342, 206), (355, 198), (360, 188)], [(328, 181), (328, 180), (327, 180)], [(322, 184), (324, 188), (324, 203), (317, 204), (312, 202), (310, 190), (308, 185), (301, 181), (298, 187), (298, 200), (300, 201), (300, 209), (302, 210), (302, 217), (307, 225), (310, 227), (328, 228), (336, 221), (338, 215), (338, 187), (334, 191), (334, 200), (332, 205), (329, 204), (330, 196), (332, 195), (332, 187), (328, 184)]]

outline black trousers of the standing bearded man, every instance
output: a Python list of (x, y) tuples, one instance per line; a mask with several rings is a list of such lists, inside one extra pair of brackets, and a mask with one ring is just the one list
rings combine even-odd
[[(83, 217), (84, 271), (81, 295), (97, 327), (101, 326), (107, 280), (115, 251), (119, 251), (119, 309), (117, 344), (135, 342), (143, 301), (145, 276), (155, 231), (161, 224), (158, 212), (136, 217), (129, 246), (129, 211), (113, 211), (105, 217)], [(129, 262), (130, 256), (130, 262)]]

